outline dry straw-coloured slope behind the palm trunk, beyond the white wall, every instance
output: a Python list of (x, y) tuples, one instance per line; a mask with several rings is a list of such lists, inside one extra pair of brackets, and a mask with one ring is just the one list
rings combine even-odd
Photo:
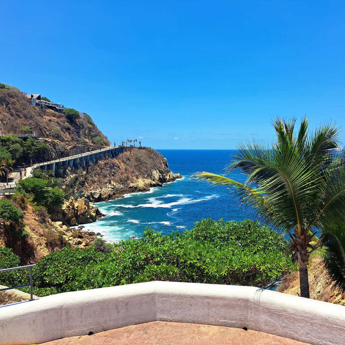
[[(310, 298), (345, 305), (345, 294), (340, 293), (336, 289), (332, 289), (332, 282), (322, 259), (313, 259), (313, 262), (309, 265), (308, 277)], [(299, 273), (294, 272), (286, 275), (277, 291), (300, 296)]]

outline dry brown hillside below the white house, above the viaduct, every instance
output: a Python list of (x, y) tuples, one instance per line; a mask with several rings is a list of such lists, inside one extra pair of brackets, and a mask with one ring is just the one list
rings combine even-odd
[(91, 140), (92, 137), (97, 136), (103, 139), (104, 146), (109, 146), (106, 136), (93, 122), (88, 123), (87, 118), (68, 122), (64, 114), (49, 109), (42, 111), (32, 106), (27, 97), (14, 89), (0, 89), (0, 123), (3, 132), (20, 132), (22, 126), (28, 125), (35, 128), (38, 135), (49, 138), (56, 136), (53, 128), (59, 127), (63, 140), (47, 140), (47, 143), (63, 144), (66, 146), (66, 150), (75, 145), (98, 147), (99, 144)]

